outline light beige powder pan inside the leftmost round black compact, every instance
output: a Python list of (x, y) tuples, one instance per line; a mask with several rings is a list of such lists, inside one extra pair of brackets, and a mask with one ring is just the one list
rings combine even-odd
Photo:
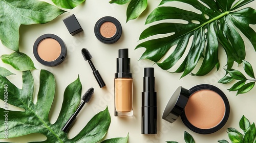
[(61, 47), (57, 40), (46, 38), (38, 44), (37, 53), (42, 60), (51, 62), (60, 56)]

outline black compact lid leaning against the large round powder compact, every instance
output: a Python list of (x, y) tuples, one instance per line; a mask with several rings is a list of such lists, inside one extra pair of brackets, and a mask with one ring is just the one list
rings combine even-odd
[(189, 96), (189, 90), (181, 86), (178, 87), (164, 109), (162, 116), (163, 120), (168, 121), (169, 123), (175, 122), (183, 112)]

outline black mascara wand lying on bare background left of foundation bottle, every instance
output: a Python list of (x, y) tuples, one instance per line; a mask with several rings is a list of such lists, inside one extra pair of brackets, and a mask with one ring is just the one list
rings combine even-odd
[(84, 60), (89, 62), (90, 66), (93, 70), (93, 75), (99, 84), (99, 87), (100, 88), (104, 87), (106, 84), (104, 83), (103, 79), (101, 78), (99, 71), (96, 70), (95, 66), (93, 65), (93, 62), (91, 61), (92, 55), (90, 54), (90, 52), (87, 49), (83, 48), (82, 56), (83, 56)]

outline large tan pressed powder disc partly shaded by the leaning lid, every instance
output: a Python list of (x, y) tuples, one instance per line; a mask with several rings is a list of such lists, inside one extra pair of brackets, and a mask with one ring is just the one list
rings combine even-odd
[(210, 129), (222, 121), (225, 115), (225, 104), (215, 91), (199, 90), (189, 97), (185, 115), (193, 126)]

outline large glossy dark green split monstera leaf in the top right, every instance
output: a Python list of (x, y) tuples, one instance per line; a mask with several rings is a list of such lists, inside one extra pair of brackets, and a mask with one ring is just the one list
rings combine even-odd
[[(202, 59), (199, 70), (192, 75), (204, 76), (215, 66), (217, 70), (219, 69), (218, 47), (221, 44), (227, 55), (227, 69), (230, 69), (234, 62), (242, 63), (242, 60), (245, 59), (245, 44), (239, 31), (248, 38), (256, 50), (256, 33), (249, 26), (256, 24), (256, 10), (252, 8), (237, 10), (253, 0), (240, 0), (235, 4), (234, 1), (163, 0), (160, 6), (147, 17), (145, 23), (159, 22), (145, 29), (139, 39), (158, 34), (169, 36), (149, 39), (137, 45), (136, 49), (146, 48), (140, 59), (150, 59), (162, 69), (168, 70), (181, 57), (184, 57), (184, 61), (174, 71), (174, 73), (183, 72), (181, 77), (191, 73)], [(195, 13), (176, 7), (163, 6), (167, 2), (186, 3), (201, 12)], [(167, 19), (185, 20), (186, 23), (166, 22)], [(193, 37), (193, 40), (191, 46), (188, 46), (190, 37)], [(171, 47), (175, 49), (170, 55), (166, 55)], [(186, 48), (189, 48), (189, 52), (184, 55)], [(164, 56), (167, 58), (163, 62), (159, 62)]]

